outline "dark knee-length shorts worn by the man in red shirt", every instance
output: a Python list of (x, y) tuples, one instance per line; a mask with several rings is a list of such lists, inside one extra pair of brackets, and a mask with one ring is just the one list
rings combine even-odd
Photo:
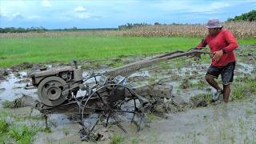
[(235, 62), (230, 62), (226, 66), (216, 67), (210, 65), (206, 76), (211, 76), (218, 79), (218, 75), (222, 74), (222, 84), (228, 85), (233, 82)]

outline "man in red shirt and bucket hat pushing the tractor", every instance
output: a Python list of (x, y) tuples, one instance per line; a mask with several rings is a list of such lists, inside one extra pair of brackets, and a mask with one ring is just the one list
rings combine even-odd
[[(206, 81), (217, 90), (213, 94), (212, 102), (228, 102), (230, 97), (230, 84), (233, 82), (235, 54), (238, 42), (234, 35), (222, 28), (218, 19), (211, 19), (207, 22), (208, 33), (206, 38), (196, 47), (200, 49), (208, 45), (210, 47), (210, 58), (212, 62), (206, 73)], [(222, 75), (223, 90), (218, 86), (214, 78)]]

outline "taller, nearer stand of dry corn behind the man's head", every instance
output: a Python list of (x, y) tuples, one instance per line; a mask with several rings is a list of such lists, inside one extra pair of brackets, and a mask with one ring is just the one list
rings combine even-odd
[[(235, 38), (256, 38), (256, 22), (225, 22), (225, 29), (230, 30)], [(142, 37), (205, 37), (208, 30), (204, 25), (158, 25), (141, 26), (126, 30), (125, 36)]]

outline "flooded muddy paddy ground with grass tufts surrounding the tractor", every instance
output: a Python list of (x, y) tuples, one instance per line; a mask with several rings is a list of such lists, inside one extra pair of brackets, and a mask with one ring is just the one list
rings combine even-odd
[[(234, 71), (229, 103), (210, 103), (214, 90), (204, 79), (210, 66), (208, 55), (202, 59), (178, 58), (143, 68), (127, 77), (137, 86), (162, 84), (172, 86), (172, 98), (164, 99), (145, 114), (148, 122), (137, 130), (134, 124), (122, 122), (125, 134), (117, 126), (100, 129), (99, 143), (255, 143), (256, 142), (256, 45), (240, 46)], [(85, 75), (136, 62), (149, 55), (78, 62)], [(38, 110), (10, 102), (28, 95), (38, 99), (37, 90), (25, 90), (28, 75), (38, 68), (63, 64), (24, 64), (0, 71), (1, 136), (0, 142), (86, 143), (80, 140), (81, 125), (64, 114), (50, 114), (50, 129)], [(220, 83), (220, 79), (218, 79)], [(78, 91), (78, 94), (83, 94)], [(26, 102), (25, 102), (26, 103)], [(8, 108), (9, 107), (9, 108)], [(159, 115), (163, 113), (163, 115)], [(5, 122), (7, 123), (6, 125)], [(26, 135), (24, 138), (22, 135)]]

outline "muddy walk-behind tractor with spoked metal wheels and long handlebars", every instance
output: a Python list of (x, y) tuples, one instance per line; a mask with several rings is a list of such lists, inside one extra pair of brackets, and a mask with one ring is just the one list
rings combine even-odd
[(157, 62), (200, 54), (206, 52), (174, 51), (107, 70), (103, 74), (86, 76), (74, 62), (74, 66), (35, 71), (30, 74), (32, 85), (26, 89), (38, 89), (36, 108), (45, 116), (46, 126), (47, 114), (67, 114), (82, 125), (82, 140), (97, 140), (94, 130), (99, 126), (115, 124), (126, 132), (121, 123), (134, 122), (139, 129), (136, 119), (142, 118), (143, 107), (154, 100), (172, 96), (172, 86), (138, 87), (127, 82), (126, 76)]

